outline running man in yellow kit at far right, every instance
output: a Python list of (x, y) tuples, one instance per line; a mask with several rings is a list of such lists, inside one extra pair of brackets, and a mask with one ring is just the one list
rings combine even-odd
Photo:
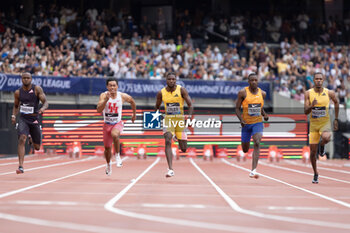
[[(334, 103), (335, 119), (333, 122), (334, 131), (338, 130), (339, 102), (335, 97), (334, 91), (323, 87), (324, 76), (322, 73), (315, 73), (314, 87), (305, 93), (304, 112), (310, 116), (309, 144), (310, 144), (310, 161), (314, 170), (312, 183), (318, 184), (317, 171), (317, 148), (319, 155), (324, 156), (324, 145), (331, 139), (331, 123), (329, 117), (329, 100)], [(321, 138), (321, 142), (320, 142)]]

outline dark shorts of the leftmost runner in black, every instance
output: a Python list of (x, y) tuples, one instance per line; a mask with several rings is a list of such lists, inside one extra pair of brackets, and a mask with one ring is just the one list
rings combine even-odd
[(18, 137), (20, 135), (30, 135), (34, 144), (41, 144), (41, 128), (38, 119), (19, 117), (17, 126)]

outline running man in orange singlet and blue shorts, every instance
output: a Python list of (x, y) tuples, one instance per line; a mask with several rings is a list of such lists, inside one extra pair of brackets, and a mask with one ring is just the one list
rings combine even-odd
[[(264, 128), (261, 116), (264, 117), (265, 121), (269, 120), (269, 116), (263, 109), (266, 92), (258, 88), (258, 76), (255, 73), (251, 73), (248, 76), (248, 83), (248, 87), (238, 92), (236, 114), (242, 126), (241, 143), (244, 153), (248, 152), (250, 139), (253, 136), (254, 151), (252, 170), (249, 173), (249, 177), (258, 179), (259, 174), (256, 172), (256, 167), (258, 166), (260, 141)], [(241, 107), (243, 108), (243, 114), (241, 114)]]

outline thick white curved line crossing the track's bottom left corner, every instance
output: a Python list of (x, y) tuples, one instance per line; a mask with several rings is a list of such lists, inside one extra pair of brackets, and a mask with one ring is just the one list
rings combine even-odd
[(0, 213), (0, 218), (14, 221), (14, 222), (21, 222), (21, 223), (28, 223), (32, 225), (39, 225), (39, 226), (46, 226), (46, 227), (55, 227), (55, 228), (61, 228), (65, 230), (75, 230), (75, 231), (85, 231), (85, 232), (97, 232), (97, 233), (147, 233), (150, 231), (137, 231), (137, 230), (129, 230), (129, 229), (120, 229), (117, 228), (109, 228), (109, 227), (100, 227), (100, 226), (94, 226), (94, 225), (86, 225), (86, 224), (79, 224), (79, 223), (71, 223), (71, 222), (61, 222), (61, 221), (50, 221), (50, 220), (44, 220), (44, 219), (38, 219), (38, 218), (30, 218), (30, 217), (24, 217), (24, 216), (18, 216), (18, 215), (12, 215), (12, 214), (5, 214)]

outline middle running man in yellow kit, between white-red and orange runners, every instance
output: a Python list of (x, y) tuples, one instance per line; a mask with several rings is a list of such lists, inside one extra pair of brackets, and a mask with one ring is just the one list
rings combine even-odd
[(192, 115), (193, 107), (187, 90), (180, 85), (176, 85), (175, 73), (170, 72), (166, 75), (167, 86), (160, 90), (157, 94), (156, 110), (158, 111), (162, 102), (165, 108), (165, 117), (163, 124), (163, 133), (165, 139), (165, 155), (168, 162), (168, 172), (165, 177), (175, 175), (173, 170), (173, 153), (171, 149), (171, 139), (179, 141), (182, 152), (187, 150), (187, 134), (184, 116), (184, 100), (189, 108), (188, 114)]

